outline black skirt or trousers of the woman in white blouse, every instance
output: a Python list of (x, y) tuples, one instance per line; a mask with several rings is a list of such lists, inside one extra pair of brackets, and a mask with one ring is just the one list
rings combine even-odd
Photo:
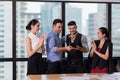
[(35, 53), (28, 58), (27, 75), (42, 74), (42, 54)]

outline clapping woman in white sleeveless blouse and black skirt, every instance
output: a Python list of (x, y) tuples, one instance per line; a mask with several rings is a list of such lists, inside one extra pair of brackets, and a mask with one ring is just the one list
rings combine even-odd
[(26, 29), (30, 31), (29, 34), (26, 36), (26, 48), (29, 56), (27, 75), (41, 74), (42, 53), (45, 52), (45, 34), (40, 37), (37, 35), (40, 29), (40, 22), (36, 19), (32, 19), (27, 24)]

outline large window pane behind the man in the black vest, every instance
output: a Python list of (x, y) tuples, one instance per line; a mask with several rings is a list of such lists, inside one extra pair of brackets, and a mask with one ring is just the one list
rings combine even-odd
[[(65, 10), (65, 34), (69, 34), (67, 23), (74, 20), (77, 31), (87, 37), (90, 48), (90, 42), (97, 39), (97, 29), (101, 26), (106, 27), (106, 4), (66, 3)], [(88, 54), (84, 54), (84, 57), (87, 56)]]

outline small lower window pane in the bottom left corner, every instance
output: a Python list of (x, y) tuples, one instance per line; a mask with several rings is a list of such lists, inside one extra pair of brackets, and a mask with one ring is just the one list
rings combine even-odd
[(0, 62), (0, 80), (13, 80), (12, 62)]

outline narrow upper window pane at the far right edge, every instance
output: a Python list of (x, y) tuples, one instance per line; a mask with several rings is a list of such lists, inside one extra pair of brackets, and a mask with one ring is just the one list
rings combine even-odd
[(113, 56), (120, 57), (120, 4), (112, 4)]

